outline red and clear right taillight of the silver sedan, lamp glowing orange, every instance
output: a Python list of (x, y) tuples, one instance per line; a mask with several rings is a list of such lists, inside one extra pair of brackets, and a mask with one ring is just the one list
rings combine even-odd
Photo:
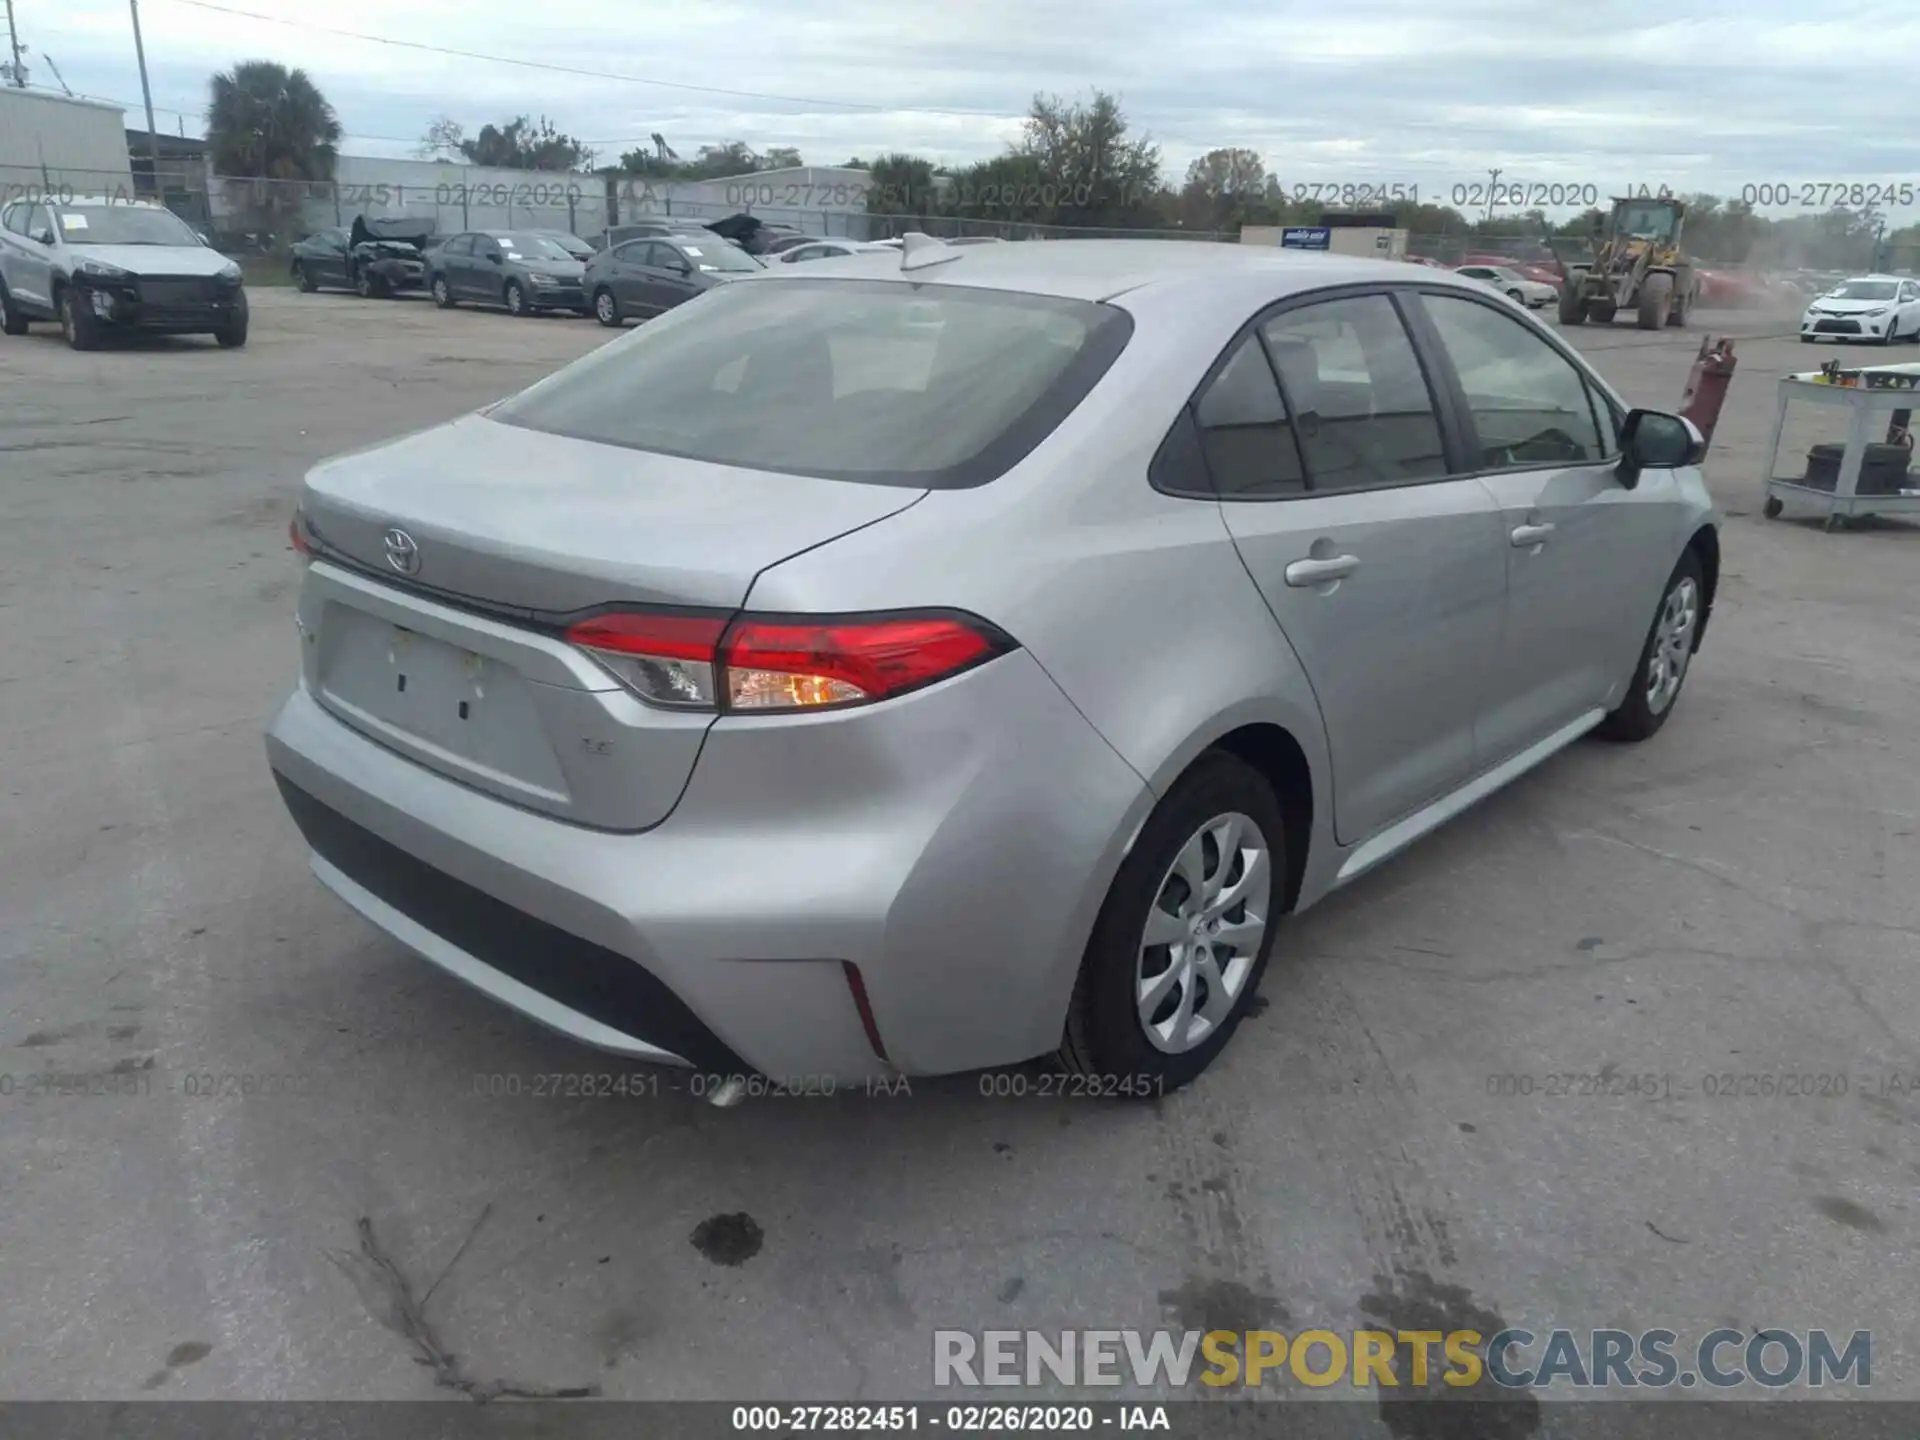
[(749, 614), (728, 624), (622, 611), (574, 624), (566, 639), (655, 705), (756, 712), (870, 705), (1012, 649), (958, 614)]

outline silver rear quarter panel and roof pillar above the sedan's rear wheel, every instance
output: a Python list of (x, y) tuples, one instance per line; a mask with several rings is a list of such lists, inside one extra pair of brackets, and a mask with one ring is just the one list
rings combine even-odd
[[(1315, 795), (1329, 797), (1319, 707), (1219, 505), (1162, 495), (1146, 478), (1192, 386), (1261, 303), (1263, 292), (1250, 292), (1213, 315), (1190, 303), (1137, 309), (1108, 376), (1014, 470), (977, 490), (931, 492), (772, 566), (747, 605), (970, 611), (1010, 632), (1156, 795), (1225, 733), (1273, 724), (1304, 751)], [(1329, 812), (1315, 804), (1302, 899), (1332, 872)], [(1125, 849), (1087, 876), (1094, 899)]]

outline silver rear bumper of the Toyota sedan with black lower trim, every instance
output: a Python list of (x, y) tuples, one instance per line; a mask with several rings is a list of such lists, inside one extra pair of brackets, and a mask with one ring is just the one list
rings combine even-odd
[(1054, 1048), (1150, 806), (1025, 651), (872, 710), (722, 720), (643, 833), (445, 780), (305, 687), (267, 753), (317, 877), (426, 960), (586, 1044), (776, 1081)]

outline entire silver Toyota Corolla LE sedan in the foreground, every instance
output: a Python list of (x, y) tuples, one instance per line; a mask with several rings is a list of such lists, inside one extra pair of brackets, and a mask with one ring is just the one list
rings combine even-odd
[(1674, 712), (1699, 432), (1484, 286), (874, 261), (307, 476), (267, 751), (326, 887), (647, 1062), (1158, 1094), (1286, 912)]

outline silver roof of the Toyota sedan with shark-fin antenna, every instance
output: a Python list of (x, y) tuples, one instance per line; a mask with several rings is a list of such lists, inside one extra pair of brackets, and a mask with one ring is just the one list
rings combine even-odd
[[(881, 255), (889, 259), (881, 259)], [(1027, 240), (1002, 246), (956, 246), (937, 265), (902, 271), (891, 246), (818, 261), (808, 275), (858, 275), (899, 278), (906, 284), (960, 284), (981, 290), (1018, 290), (1062, 300), (1114, 300), (1154, 288), (1206, 286), (1238, 276), (1275, 296), (1336, 284), (1380, 280), (1455, 284), (1446, 271), (1404, 261), (1369, 259), (1242, 246), (1217, 240)], [(924, 252), (925, 253), (925, 252)], [(1461, 290), (1480, 294), (1467, 278)]]

